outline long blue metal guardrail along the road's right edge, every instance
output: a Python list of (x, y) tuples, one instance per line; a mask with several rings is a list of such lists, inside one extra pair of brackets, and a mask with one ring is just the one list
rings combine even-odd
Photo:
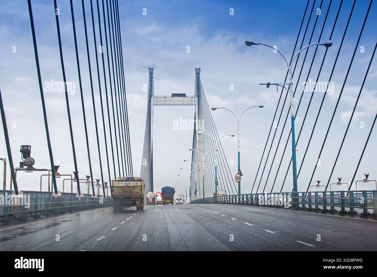
[(367, 191), (305, 191), (285, 193), (252, 193), (207, 197), (190, 201), (190, 204), (241, 204), (280, 208), (301, 208), (317, 211), (373, 213), (377, 216), (377, 190)]

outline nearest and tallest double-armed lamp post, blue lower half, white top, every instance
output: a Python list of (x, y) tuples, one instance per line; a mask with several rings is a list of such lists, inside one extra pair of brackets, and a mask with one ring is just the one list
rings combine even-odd
[[(264, 45), (264, 46), (268, 46), (274, 50), (276, 50), (276, 52), (278, 52), (283, 58), (284, 58), (284, 61), (285, 63), (287, 64), (287, 67), (288, 67), (288, 71), (289, 71), (289, 80), (290, 80), (290, 83), (289, 83), (289, 93), (290, 93), (290, 102), (291, 102), (291, 128), (292, 128), (292, 169), (293, 169), (293, 193), (294, 193), (294, 202), (293, 202), (293, 207), (296, 208), (298, 207), (298, 200), (297, 200), (297, 163), (296, 163), (296, 139), (295, 139), (295, 134), (294, 134), (294, 115), (293, 115), (293, 112), (294, 112), (294, 105), (293, 105), (293, 81), (292, 81), (292, 69), (291, 69), (291, 66), (288, 64), (288, 61), (287, 61), (287, 58), (285, 58), (284, 54), (279, 50), (277, 49), (276, 46), (272, 46), (270, 44), (267, 44), (267, 43), (262, 43), (262, 42), (259, 42), (259, 43), (255, 43), (253, 41), (245, 41), (245, 45), (246, 46), (251, 46), (251, 45)], [(326, 41), (324, 43), (312, 43), (312, 44), (309, 44), (305, 47), (302, 47), (299, 51), (297, 51), (296, 55), (294, 55), (293, 59), (292, 59), (292, 63), (294, 60), (296, 60), (297, 56), (300, 54), (301, 51), (307, 49), (308, 47), (311, 47), (311, 46), (314, 46), (314, 45), (323, 45), (325, 46), (326, 48), (328, 47), (331, 47), (331, 45), (333, 45), (333, 43), (331, 41)]]

